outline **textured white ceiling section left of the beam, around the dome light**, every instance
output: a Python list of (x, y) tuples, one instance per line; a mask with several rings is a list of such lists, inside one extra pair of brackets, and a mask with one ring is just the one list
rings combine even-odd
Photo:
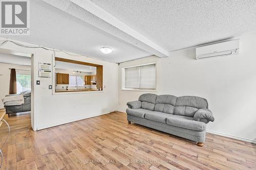
[[(62, 2), (65, 4), (65, 1)], [(90, 13), (84, 17), (94, 18)], [(122, 62), (151, 55), (39, 0), (30, 1), (30, 27), (29, 36), (7, 37), (109, 62)], [(99, 52), (101, 46), (112, 47), (114, 52), (102, 54)]]

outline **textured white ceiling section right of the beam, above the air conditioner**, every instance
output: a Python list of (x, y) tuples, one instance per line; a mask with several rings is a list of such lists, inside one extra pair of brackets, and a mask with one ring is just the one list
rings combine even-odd
[(256, 1), (91, 0), (168, 51), (256, 32)]

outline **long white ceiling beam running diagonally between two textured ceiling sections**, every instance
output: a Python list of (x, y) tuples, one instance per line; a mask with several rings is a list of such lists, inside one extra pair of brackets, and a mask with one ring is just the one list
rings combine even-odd
[[(89, 0), (42, 0), (64, 12), (73, 15), (74, 17), (81, 19), (90, 25), (111, 34), (123, 41), (126, 41), (134, 46), (141, 48), (142, 50), (149, 52), (158, 57), (168, 57), (169, 52), (160, 45), (141, 35), (131, 27), (125, 25), (122, 21), (115, 16), (106, 12), (96, 4)], [(80, 7), (87, 12), (78, 11), (73, 9), (74, 5)], [(93, 14), (96, 18), (91, 18), (88, 13)], [(102, 23), (101, 23), (102, 22)]]

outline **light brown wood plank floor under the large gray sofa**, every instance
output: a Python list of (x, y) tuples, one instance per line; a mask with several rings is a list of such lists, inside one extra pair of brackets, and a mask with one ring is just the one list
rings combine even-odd
[(256, 145), (206, 134), (204, 147), (111, 113), (13, 133), (2, 169), (256, 169)]

